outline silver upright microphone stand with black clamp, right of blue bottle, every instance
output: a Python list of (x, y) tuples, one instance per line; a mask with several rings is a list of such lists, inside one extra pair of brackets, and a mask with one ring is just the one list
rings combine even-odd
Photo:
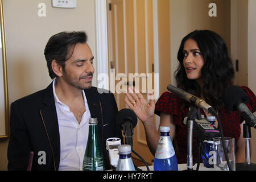
[(188, 155), (187, 155), (187, 171), (193, 171), (193, 153), (192, 153), (192, 139), (193, 139), (193, 122), (195, 119), (201, 119), (199, 107), (190, 106), (187, 117), (188, 126)]

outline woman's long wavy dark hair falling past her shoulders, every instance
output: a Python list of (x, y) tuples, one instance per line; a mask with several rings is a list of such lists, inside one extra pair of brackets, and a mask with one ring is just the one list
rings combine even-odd
[[(195, 80), (189, 80), (183, 65), (183, 48), (188, 39), (193, 39), (200, 49), (204, 59), (201, 77), (204, 80), (203, 90)], [(219, 110), (223, 106), (222, 93), (228, 86), (233, 85), (234, 68), (228, 55), (224, 40), (210, 30), (195, 30), (183, 38), (177, 54), (179, 67), (176, 70), (175, 80), (177, 87), (200, 97)]]

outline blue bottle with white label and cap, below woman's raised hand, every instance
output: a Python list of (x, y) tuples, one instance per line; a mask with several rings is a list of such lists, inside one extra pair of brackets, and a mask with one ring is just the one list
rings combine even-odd
[(170, 138), (170, 127), (160, 126), (160, 139), (155, 152), (154, 171), (177, 170), (177, 158)]

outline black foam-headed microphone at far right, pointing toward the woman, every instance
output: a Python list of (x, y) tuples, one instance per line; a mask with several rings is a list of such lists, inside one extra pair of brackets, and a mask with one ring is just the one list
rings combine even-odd
[(242, 117), (245, 119), (247, 125), (256, 129), (256, 118), (246, 106), (249, 96), (239, 86), (229, 86), (224, 94), (223, 101), (229, 111), (240, 111)]

